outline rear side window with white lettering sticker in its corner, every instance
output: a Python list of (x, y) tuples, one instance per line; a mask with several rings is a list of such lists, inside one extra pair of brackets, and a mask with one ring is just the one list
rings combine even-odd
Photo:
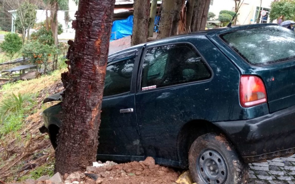
[(206, 80), (211, 72), (188, 43), (147, 49), (142, 66), (141, 90)]

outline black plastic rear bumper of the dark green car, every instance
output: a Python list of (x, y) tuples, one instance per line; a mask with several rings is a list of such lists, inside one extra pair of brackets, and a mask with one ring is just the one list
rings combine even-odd
[(214, 124), (246, 163), (295, 153), (295, 106), (254, 119)]

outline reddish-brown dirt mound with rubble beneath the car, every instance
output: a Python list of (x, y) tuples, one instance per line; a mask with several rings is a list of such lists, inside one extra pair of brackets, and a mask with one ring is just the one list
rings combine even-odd
[(145, 161), (106, 165), (102, 167), (87, 167), (87, 173), (96, 173), (96, 182), (87, 177), (89, 184), (171, 184), (179, 174), (171, 168), (155, 165), (153, 158)]

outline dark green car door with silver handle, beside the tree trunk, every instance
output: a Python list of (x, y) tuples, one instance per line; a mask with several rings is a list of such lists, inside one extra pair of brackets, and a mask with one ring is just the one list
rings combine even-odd
[(135, 109), (138, 50), (109, 57), (101, 108), (98, 158), (137, 160), (142, 156)]

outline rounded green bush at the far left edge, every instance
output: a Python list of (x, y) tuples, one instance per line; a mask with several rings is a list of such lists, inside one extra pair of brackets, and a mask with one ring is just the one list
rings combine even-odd
[(13, 56), (22, 48), (22, 38), (16, 33), (8, 33), (4, 36), (4, 41), (0, 43), (0, 48), (12, 60)]

